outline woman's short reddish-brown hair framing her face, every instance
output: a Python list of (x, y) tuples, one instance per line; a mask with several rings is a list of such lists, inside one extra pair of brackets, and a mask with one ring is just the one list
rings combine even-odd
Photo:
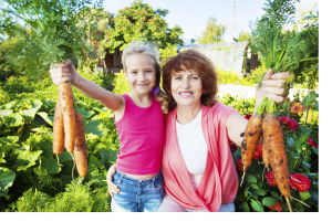
[(199, 74), (203, 92), (205, 92), (200, 97), (200, 103), (208, 107), (214, 106), (217, 103), (216, 95), (218, 93), (218, 77), (215, 65), (206, 55), (197, 50), (186, 50), (167, 59), (162, 65), (163, 89), (172, 97), (168, 103), (168, 110), (174, 109), (176, 106), (170, 89), (172, 76), (183, 71), (181, 66)]

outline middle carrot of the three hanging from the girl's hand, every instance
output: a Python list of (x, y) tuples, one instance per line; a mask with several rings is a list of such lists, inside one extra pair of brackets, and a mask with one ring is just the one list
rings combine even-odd
[(73, 105), (73, 91), (69, 83), (61, 83), (58, 91), (63, 114), (63, 126), (65, 134), (64, 146), (69, 152), (73, 152), (75, 146), (75, 112)]

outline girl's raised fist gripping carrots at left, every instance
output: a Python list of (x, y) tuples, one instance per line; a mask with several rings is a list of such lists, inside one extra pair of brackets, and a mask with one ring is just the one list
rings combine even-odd
[(54, 64), (51, 66), (50, 73), (53, 83), (56, 85), (69, 81), (71, 81), (71, 84), (74, 85), (79, 75), (74, 64), (70, 60), (61, 64)]

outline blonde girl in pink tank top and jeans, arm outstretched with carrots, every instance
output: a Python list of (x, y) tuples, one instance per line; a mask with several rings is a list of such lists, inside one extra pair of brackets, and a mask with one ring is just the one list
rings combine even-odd
[(159, 87), (158, 60), (157, 46), (148, 42), (135, 41), (125, 47), (122, 63), (131, 92), (124, 95), (85, 80), (71, 61), (50, 70), (54, 84), (71, 81), (84, 95), (114, 112), (121, 144), (114, 182), (121, 192), (112, 198), (113, 213), (156, 212), (163, 200), (163, 112), (168, 112), (168, 97)]

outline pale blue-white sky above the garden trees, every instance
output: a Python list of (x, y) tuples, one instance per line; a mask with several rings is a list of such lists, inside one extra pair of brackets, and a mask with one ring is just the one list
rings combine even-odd
[[(111, 13), (117, 13), (120, 9), (129, 7), (134, 0), (104, 0), (104, 9)], [(231, 42), (234, 4), (235, 0), (143, 0), (154, 10), (168, 9), (164, 18), (168, 28), (179, 25), (184, 34), (183, 40), (197, 39), (207, 25), (209, 17), (215, 17), (217, 23), (226, 24), (225, 41)], [(262, 8), (267, 0), (236, 0), (234, 36), (238, 38), (243, 30), (250, 32), (249, 22), (263, 14)], [(317, 4), (314, 7), (314, 4)], [(295, 3), (299, 10), (319, 10), (319, 0), (301, 0)]]

